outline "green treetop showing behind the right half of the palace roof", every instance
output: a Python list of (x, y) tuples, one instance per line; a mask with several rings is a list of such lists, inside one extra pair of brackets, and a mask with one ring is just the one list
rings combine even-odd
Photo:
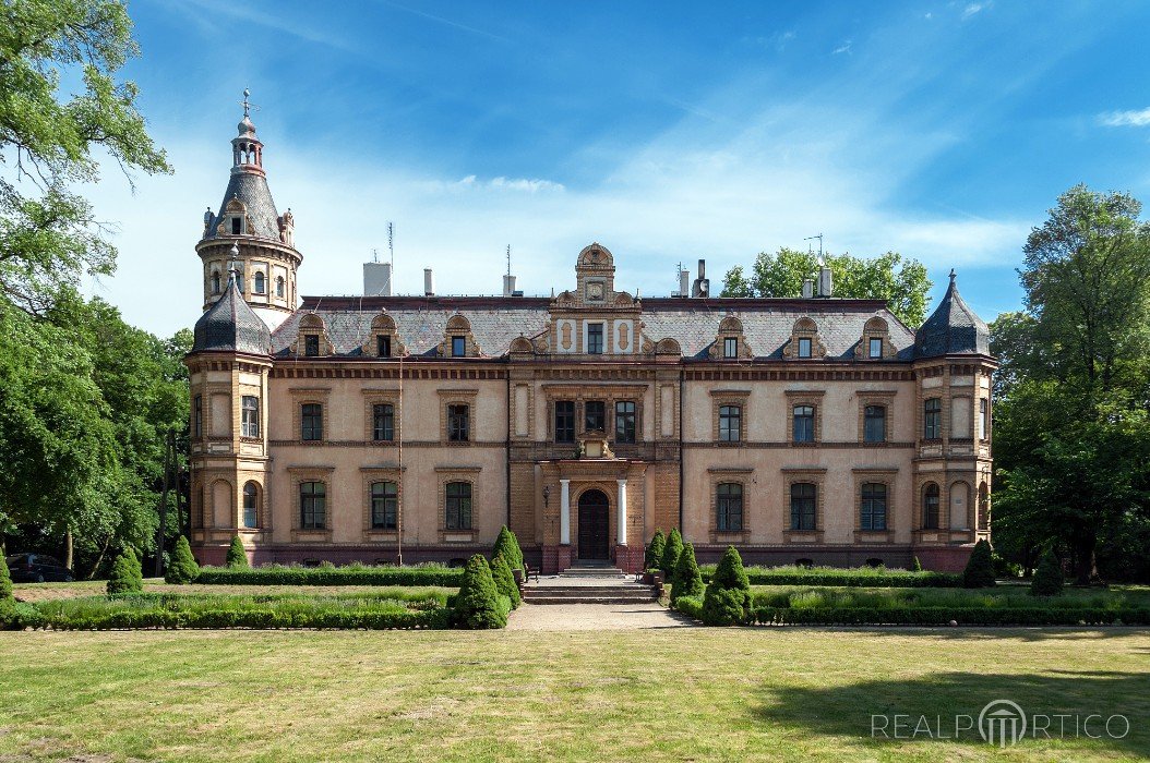
[[(890, 311), (910, 325), (926, 318), (931, 283), (921, 262), (887, 252), (877, 257), (825, 254), (834, 276), (836, 296), (881, 299)], [(810, 252), (782, 247), (775, 254), (760, 252), (746, 276), (735, 265), (723, 278), (721, 296), (798, 296), (803, 280), (819, 271), (818, 257)]]

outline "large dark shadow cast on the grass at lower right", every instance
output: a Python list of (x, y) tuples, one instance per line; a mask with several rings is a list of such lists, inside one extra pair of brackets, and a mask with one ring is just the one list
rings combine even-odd
[[(767, 723), (811, 734), (873, 739), (876, 745), (943, 739), (984, 746), (979, 714), (995, 700), (1011, 700), (1028, 718), (1022, 746), (1061, 739), (1068, 746), (1150, 755), (1150, 673), (1053, 672), (946, 672), (848, 686), (790, 686), (767, 689), (758, 715)], [(1088, 716), (1092, 717), (1087, 720)], [(1126, 720), (1116, 718), (1110, 725), (1113, 733), (1107, 734), (1105, 724), (1112, 716), (1128, 719), (1128, 730)]]

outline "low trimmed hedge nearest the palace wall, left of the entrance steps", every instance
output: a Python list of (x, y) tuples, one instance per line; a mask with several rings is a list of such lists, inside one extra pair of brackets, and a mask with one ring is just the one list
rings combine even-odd
[(446, 567), (225, 567), (200, 568), (195, 583), (230, 586), (443, 586), (463, 583), (461, 568)]

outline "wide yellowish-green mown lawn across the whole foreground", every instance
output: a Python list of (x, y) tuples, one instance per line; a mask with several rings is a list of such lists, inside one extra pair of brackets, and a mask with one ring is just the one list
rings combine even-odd
[[(1133, 629), (23, 632), (0, 654), (0, 760), (1150, 755), (1150, 632)], [(996, 699), (1130, 731), (1002, 753), (871, 740), (872, 714), (934, 726)]]

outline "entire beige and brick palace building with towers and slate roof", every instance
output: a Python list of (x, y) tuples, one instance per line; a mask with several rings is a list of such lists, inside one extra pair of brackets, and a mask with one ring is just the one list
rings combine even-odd
[[(989, 535), (987, 325), (951, 275), (915, 332), (879, 300), (616, 287), (591, 244), (552, 298), (299, 296), (304, 256), (247, 116), (204, 218), (191, 540), (221, 563), (454, 561), (515, 531), (545, 572), (638, 570), (656, 529), (700, 561), (965, 564)], [(573, 253), (575, 254), (575, 253)], [(818, 282), (816, 284), (814, 282)]]

